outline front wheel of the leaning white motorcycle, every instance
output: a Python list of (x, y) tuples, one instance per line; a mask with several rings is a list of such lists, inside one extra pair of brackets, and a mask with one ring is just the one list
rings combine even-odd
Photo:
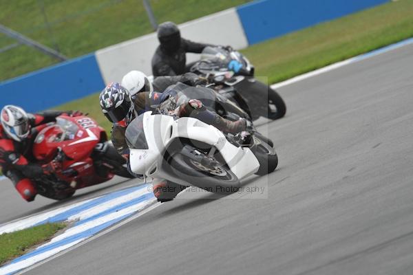
[(228, 166), (219, 164), (215, 159), (206, 163), (177, 153), (171, 157), (169, 164), (176, 176), (209, 192), (230, 194), (237, 192), (241, 184)]

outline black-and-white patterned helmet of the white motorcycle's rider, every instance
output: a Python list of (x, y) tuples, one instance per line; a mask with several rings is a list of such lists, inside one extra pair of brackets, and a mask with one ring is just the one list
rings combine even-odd
[(129, 91), (119, 83), (110, 83), (99, 95), (100, 108), (110, 122), (119, 122), (131, 118), (134, 104), (131, 102)]

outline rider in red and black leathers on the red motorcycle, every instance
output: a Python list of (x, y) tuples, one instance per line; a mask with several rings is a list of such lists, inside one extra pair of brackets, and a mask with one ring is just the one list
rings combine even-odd
[(1, 110), (0, 120), (0, 167), (17, 192), (26, 201), (36, 197), (36, 185), (32, 179), (41, 175), (50, 175), (61, 168), (61, 163), (52, 160), (43, 166), (35, 163), (32, 155), (32, 145), (36, 135), (47, 126), (48, 122), (56, 121), (62, 114), (78, 116), (78, 111), (43, 111), (41, 113), (26, 113), (21, 107), (6, 105)]

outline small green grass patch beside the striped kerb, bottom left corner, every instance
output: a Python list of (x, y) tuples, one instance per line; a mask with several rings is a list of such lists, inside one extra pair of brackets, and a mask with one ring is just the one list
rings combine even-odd
[(65, 223), (46, 223), (33, 228), (0, 235), (0, 265), (50, 239), (66, 227)]

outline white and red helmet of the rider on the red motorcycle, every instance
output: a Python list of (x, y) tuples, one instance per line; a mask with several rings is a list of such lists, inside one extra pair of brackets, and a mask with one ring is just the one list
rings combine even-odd
[(20, 107), (6, 105), (1, 110), (1, 125), (7, 135), (17, 142), (21, 142), (30, 133), (28, 114)]

